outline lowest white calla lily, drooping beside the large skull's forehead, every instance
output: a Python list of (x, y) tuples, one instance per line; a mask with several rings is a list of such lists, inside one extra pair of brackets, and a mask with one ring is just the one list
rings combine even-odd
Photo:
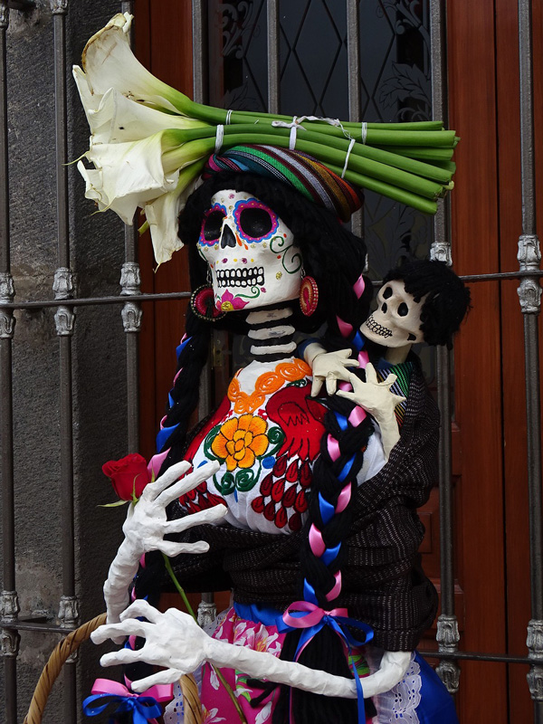
[(172, 254), (183, 246), (177, 235), (177, 218), (185, 208), (186, 199), (194, 191), (203, 166), (203, 162), (195, 163), (181, 171), (173, 191), (158, 196), (144, 207), (157, 264), (169, 262)]

